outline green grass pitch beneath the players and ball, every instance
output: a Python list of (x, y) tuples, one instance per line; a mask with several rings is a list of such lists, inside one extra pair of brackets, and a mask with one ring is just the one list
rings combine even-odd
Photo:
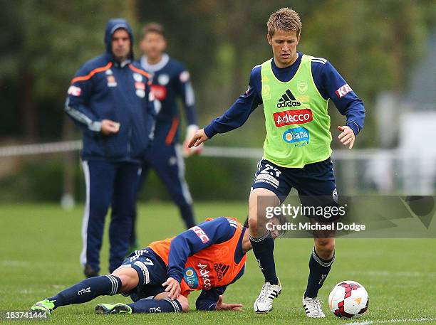
[[(234, 215), (243, 221), (246, 215), (245, 202), (198, 203), (195, 209), (198, 220)], [(139, 212), (140, 241), (144, 246), (183, 229), (176, 208), (169, 203), (142, 205)], [(28, 309), (39, 299), (83, 279), (78, 262), (81, 215), (81, 207), (63, 211), (55, 205), (0, 205), (0, 310)], [(103, 271), (108, 268), (106, 236)], [(118, 295), (61, 307), (48, 321), (20, 324), (348, 324), (351, 321), (336, 319), (326, 303), (333, 285), (344, 279), (360, 282), (370, 295), (369, 310), (356, 321), (358, 324), (436, 324), (436, 240), (338, 239), (336, 262), (320, 292), (325, 302), (323, 320), (306, 319), (301, 307), (311, 247), (312, 240), (308, 239), (276, 241), (276, 264), (283, 291), (270, 314), (257, 315), (252, 309), (263, 277), (250, 252), (244, 277), (224, 294), (224, 302), (240, 302), (244, 312), (93, 314), (93, 307), (99, 302), (130, 302)], [(191, 307), (195, 306), (196, 297), (196, 293), (190, 295)]]

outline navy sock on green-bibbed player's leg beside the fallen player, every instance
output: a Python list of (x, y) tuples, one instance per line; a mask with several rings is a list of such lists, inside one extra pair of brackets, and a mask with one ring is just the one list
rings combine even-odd
[(253, 238), (249, 235), (249, 239), (254, 256), (264, 274), (265, 282), (279, 284), (276, 275), (276, 262), (274, 262), (274, 240), (271, 233), (267, 231), (261, 238)]

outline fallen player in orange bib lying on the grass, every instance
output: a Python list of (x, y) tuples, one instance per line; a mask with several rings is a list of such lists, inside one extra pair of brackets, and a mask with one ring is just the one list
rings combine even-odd
[[(284, 223), (281, 216), (273, 223)], [(277, 230), (271, 231), (275, 239)], [(189, 309), (187, 295), (202, 290), (197, 310), (238, 311), (242, 304), (223, 302), (227, 285), (244, 274), (246, 252), (251, 250), (248, 222), (235, 218), (207, 220), (174, 238), (135, 250), (112, 274), (84, 279), (31, 307), (51, 315), (54, 309), (83, 304), (96, 297), (123, 294), (131, 304), (98, 304), (96, 314), (182, 312)]]

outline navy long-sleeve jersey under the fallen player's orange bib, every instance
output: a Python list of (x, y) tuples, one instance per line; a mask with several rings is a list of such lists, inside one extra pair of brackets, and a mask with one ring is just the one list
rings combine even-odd
[[(168, 277), (182, 281), (183, 270), (187, 258), (194, 255), (200, 250), (212, 246), (214, 244), (224, 243), (233, 237), (236, 228), (234, 221), (229, 218), (216, 218), (198, 225), (199, 228), (207, 235), (209, 240), (206, 243), (192, 229), (185, 230), (180, 235), (177, 235), (170, 246), (170, 255), (168, 256)], [(246, 228), (242, 230), (239, 238), (237, 250), (234, 252), (234, 261), (240, 262), (244, 257), (242, 250), (242, 238)], [(244, 275), (244, 268), (232, 280), (232, 283), (237, 281)], [(202, 293), (197, 298), (196, 307), (199, 310), (214, 310), (220, 294), (223, 294), (227, 286), (214, 287), (209, 290), (202, 290)]]

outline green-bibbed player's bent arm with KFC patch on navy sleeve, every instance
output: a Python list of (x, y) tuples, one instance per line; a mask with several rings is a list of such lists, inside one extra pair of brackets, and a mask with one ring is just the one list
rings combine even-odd
[(338, 126), (338, 131), (341, 132), (338, 139), (344, 146), (351, 149), (355, 136), (363, 129), (365, 121), (363, 101), (328, 61), (324, 64), (319, 63), (316, 70), (313, 77), (321, 95), (326, 99), (331, 98), (338, 111), (346, 115), (346, 124)]

